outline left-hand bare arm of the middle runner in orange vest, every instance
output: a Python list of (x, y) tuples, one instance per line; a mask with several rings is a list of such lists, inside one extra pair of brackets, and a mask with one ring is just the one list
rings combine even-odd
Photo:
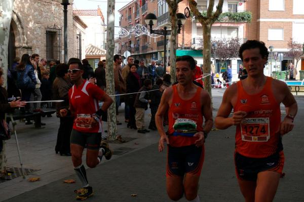
[(164, 115), (169, 109), (169, 101), (171, 99), (173, 90), (172, 87), (168, 88), (164, 91), (161, 99), (161, 103), (158, 107), (158, 110), (155, 114), (155, 124), (158, 129), (158, 132), (160, 134), (160, 140), (159, 140), (159, 151), (163, 151), (165, 148), (164, 142), (167, 142), (169, 144), (168, 136), (166, 135), (165, 129), (164, 129)]

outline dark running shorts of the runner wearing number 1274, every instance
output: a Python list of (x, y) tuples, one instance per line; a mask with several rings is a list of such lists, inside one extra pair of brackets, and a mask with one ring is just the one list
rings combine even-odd
[(256, 181), (262, 171), (282, 173), (284, 167), (283, 150), (264, 158), (250, 158), (235, 153), (235, 166), (238, 179)]

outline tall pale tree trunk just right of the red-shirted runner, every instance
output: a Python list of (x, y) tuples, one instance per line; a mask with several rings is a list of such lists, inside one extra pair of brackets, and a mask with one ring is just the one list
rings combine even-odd
[[(115, 0), (108, 0), (107, 3), (107, 31), (106, 31), (106, 93), (108, 95), (115, 95), (114, 86), (114, 70), (113, 70), (113, 57), (114, 57), (114, 22), (115, 22)], [(113, 103), (107, 110), (107, 133), (108, 140), (116, 138), (117, 125), (116, 125), (116, 108), (115, 96), (111, 97)]]

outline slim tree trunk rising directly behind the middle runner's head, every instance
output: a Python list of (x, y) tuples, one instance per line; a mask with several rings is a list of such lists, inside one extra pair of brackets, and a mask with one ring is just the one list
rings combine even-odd
[(176, 37), (177, 37), (177, 19), (176, 19), (176, 11), (177, 5), (173, 8), (169, 7), (170, 18), (171, 18), (171, 39), (170, 39), (170, 75), (171, 75), (171, 83), (176, 82)]

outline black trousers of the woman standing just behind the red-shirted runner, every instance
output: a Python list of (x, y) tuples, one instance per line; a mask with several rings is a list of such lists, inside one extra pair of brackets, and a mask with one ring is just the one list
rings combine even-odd
[(60, 117), (55, 151), (70, 153), (70, 135), (73, 129), (73, 117)]

